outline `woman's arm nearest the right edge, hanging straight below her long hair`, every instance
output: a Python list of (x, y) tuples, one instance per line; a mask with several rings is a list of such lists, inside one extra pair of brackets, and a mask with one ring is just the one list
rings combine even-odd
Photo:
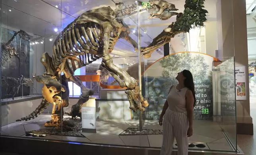
[(193, 127), (193, 109), (194, 109), (194, 96), (192, 94), (192, 91), (188, 89), (186, 92), (186, 109), (188, 113), (188, 122), (189, 127)]

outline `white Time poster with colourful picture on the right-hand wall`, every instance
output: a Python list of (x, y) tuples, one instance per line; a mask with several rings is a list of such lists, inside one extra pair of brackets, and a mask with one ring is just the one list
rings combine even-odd
[[(247, 68), (248, 69), (248, 68)], [(235, 67), (236, 100), (246, 100), (246, 66)]]

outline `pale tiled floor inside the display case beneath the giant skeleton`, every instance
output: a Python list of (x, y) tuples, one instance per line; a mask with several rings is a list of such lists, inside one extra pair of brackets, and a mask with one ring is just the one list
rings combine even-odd
[[(25, 136), (25, 132), (31, 130), (44, 129), (43, 124), (45, 121), (50, 120), (50, 115), (39, 115), (39, 117), (27, 121), (16, 122), (2, 128), (3, 135), (9, 136)], [(138, 120), (102, 120), (97, 121), (97, 133), (82, 133), (85, 137), (72, 137), (72, 136), (57, 136), (47, 134), (42, 139), (50, 140), (65, 140), (73, 142), (88, 142), (96, 144), (112, 144), (119, 146), (142, 146), (142, 147), (161, 147), (163, 136), (162, 135), (119, 135), (127, 128), (138, 127)], [(158, 125), (158, 121), (145, 120), (143, 121), (144, 129), (157, 129), (162, 130)], [(29, 138), (39, 138), (32, 137)], [(194, 134), (189, 138), (190, 143), (203, 143), (206, 145), (206, 150), (225, 150), (231, 151), (227, 140), (225, 139), (219, 125), (213, 121), (194, 120)], [(174, 143), (174, 147), (175, 143)], [(192, 149), (198, 149), (193, 147)]]

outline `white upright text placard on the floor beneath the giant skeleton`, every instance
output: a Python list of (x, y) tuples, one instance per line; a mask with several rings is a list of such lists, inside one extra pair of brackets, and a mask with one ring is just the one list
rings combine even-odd
[(82, 132), (96, 133), (96, 108), (83, 106), (81, 109)]

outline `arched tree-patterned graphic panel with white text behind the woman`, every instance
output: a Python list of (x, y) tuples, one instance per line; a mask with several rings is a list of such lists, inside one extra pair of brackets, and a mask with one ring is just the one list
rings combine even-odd
[[(157, 120), (171, 85), (177, 84), (175, 77), (184, 69), (191, 71), (194, 76), (196, 91), (196, 106), (194, 119), (212, 119), (213, 117), (213, 85), (212, 63), (214, 57), (196, 52), (180, 52), (157, 60), (142, 74), (144, 87), (142, 94), (149, 102), (145, 119)], [(134, 113), (134, 119), (138, 114)]]

